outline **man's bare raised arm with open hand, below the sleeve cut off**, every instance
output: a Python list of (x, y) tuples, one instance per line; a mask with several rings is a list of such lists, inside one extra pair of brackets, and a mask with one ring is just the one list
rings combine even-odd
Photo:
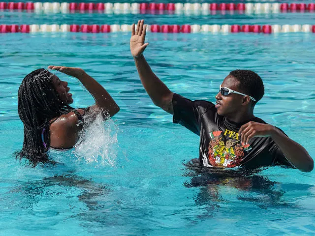
[(130, 51), (134, 58), (141, 83), (152, 99), (153, 103), (162, 108), (164, 111), (174, 115), (172, 99), (173, 92), (156, 76), (151, 70), (148, 62), (143, 56), (143, 51), (149, 45), (144, 43), (146, 36), (147, 25), (144, 25), (144, 20), (138, 21), (137, 30), (132, 25), (130, 38)]

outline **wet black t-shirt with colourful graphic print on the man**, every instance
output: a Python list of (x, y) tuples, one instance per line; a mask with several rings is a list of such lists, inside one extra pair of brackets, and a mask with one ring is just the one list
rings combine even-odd
[[(205, 167), (245, 167), (292, 165), (270, 137), (254, 137), (243, 146), (238, 136), (240, 127), (249, 122), (235, 123), (217, 114), (208, 101), (191, 101), (173, 95), (173, 123), (179, 123), (200, 136), (199, 160)], [(252, 121), (266, 123), (260, 118)]]

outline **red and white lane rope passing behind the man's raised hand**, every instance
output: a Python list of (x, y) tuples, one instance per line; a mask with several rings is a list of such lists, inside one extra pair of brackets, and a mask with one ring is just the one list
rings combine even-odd
[[(119, 31), (130, 32), (131, 25), (0, 25), (0, 33), (109, 33)], [(147, 31), (154, 33), (315, 33), (315, 25), (148, 25)]]

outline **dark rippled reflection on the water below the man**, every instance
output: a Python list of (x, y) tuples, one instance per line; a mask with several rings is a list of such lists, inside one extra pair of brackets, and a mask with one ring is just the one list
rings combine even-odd
[[(265, 168), (266, 169), (266, 168)], [(188, 188), (197, 187), (199, 192), (195, 196), (195, 203), (204, 206), (204, 217), (212, 217), (214, 211), (223, 204), (232, 204), (235, 201), (250, 202), (262, 209), (296, 208), (297, 204), (286, 202), (283, 198), (285, 189), (291, 184), (281, 184), (271, 181), (260, 174), (262, 169), (256, 170), (228, 170), (196, 168), (190, 165), (186, 176), (190, 180), (184, 182)], [(313, 185), (298, 184), (298, 188), (309, 190)]]

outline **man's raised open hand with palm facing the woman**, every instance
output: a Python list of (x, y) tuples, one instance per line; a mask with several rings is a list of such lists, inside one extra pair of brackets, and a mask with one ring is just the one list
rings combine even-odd
[(135, 58), (142, 55), (143, 51), (149, 45), (149, 43), (144, 43), (146, 37), (147, 25), (143, 27), (144, 20), (138, 21), (137, 30), (134, 29), (134, 24), (131, 27), (131, 38), (130, 38), (130, 52)]

